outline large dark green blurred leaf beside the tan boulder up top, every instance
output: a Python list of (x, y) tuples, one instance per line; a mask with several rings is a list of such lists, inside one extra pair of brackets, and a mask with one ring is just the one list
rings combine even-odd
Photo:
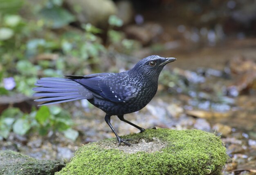
[(70, 22), (75, 21), (75, 17), (62, 7), (52, 6), (45, 7), (40, 11), (40, 15), (44, 19), (46, 25), (53, 29), (59, 29)]

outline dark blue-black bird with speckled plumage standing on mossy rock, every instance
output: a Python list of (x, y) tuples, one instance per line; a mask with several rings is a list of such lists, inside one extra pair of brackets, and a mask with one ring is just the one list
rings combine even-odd
[(40, 105), (87, 99), (92, 105), (106, 112), (105, 121), (117, 137), (118, 146), (132, 146), (130, 139), (121, 139), (112, 124), (111, 116), (117, 116), (140, 132), (144, 128), (124, 119), (124, 114), (144, 108), (155, 96), (158, 77), (163, 67), (176, 61), (151, 55), (141, 59), (132, 69), (120, 73), (96, 73), (84, 76), (65, 75), (66, 78), (45, 77), (36, 81), (33, 96), (40, 97)]

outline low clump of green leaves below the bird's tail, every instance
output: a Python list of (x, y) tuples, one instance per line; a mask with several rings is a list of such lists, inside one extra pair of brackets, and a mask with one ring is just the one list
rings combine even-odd
[(72, 125), (70, 113), (57, 106), (42, 106), (30, 114), (23, 113), (19, 108), (8, 108), (0, 115), (0, 140), (7, 139), (11, 131), (18, 135), (36, 131), (42, 136), (58, 131), (75, 140), (78, 132), (71, 128)]

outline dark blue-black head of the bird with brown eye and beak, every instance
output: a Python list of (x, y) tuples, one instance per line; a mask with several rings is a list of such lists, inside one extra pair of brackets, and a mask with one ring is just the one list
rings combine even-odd
[(147, 77), (158, 79), (164, 66), (176, 60), (176, 58), (163, 58), (161, 56), (151, 55), (139, 61), (133, 69)]

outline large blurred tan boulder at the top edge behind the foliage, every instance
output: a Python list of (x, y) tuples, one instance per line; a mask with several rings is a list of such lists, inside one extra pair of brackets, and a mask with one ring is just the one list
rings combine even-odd
[(108, 17), (117, 14), (117, 7), (112, 0), (64, 0), (64, 3), (81, 24), (106, 27)]

